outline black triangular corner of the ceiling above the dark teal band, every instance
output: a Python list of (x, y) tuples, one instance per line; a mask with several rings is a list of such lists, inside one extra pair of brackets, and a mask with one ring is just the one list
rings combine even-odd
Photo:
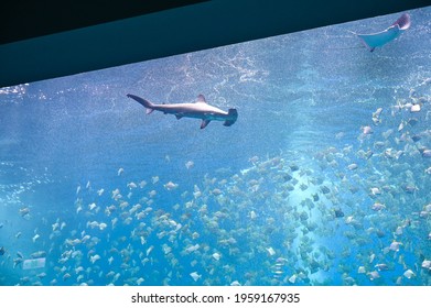
[(10, 0), (0, 10), (0, 44), (139, 16), (206, 0)]

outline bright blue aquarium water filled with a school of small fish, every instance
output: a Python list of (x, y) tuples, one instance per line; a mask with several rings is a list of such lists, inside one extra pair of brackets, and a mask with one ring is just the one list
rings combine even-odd
[(431, 285), (431, 8), (408, 13), (373, 53), (349, 31), (400, 13), (0, 89), (0, 284)]

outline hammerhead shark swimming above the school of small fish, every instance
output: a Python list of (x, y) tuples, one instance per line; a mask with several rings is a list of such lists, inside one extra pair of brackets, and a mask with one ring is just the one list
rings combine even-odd
[(134, 95), (127, 95), (127, 97), (134, 99), (140, 105), (147, 108), (147, 114), (150, 114), (154, 110), (162, 111), (164, 114), (174, 114), (177, 120), (181, 118), (196, 118), (202, 119), (201, 129), (205, 129), (206, 125), (213, 120), (225, 121), (225, 127), (230, 127), (238, 118), (238, 111), (236, 109), (229, 109), (227, 112), (223, 111), (214, 106), (209, 106), (203, 95), (197, 96), (196, 102), (184, 103), (153, 103), (141, 97)]

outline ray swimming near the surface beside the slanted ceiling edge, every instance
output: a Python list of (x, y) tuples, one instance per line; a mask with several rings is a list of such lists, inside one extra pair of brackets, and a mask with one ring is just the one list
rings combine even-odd
[(403, 13), (395, 23), (392, 23), (391, 26), (389, 26), (388, 29), (381, 32), (371, 33), (371, 34), (358, 34), (355, 32), (352, 33), (357, 35), (370, 52), (374, 52), (376, 47), (381, 47), (385, 44), (394, 41), (409, 28), (410, 28), (410, 15)]

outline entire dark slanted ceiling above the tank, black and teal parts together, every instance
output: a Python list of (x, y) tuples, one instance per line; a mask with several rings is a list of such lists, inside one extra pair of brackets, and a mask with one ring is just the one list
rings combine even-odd
[(8, 0), (0, 87), (407, 11), (431, 0)]

